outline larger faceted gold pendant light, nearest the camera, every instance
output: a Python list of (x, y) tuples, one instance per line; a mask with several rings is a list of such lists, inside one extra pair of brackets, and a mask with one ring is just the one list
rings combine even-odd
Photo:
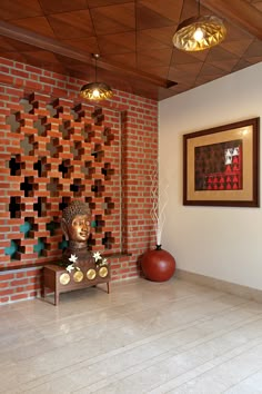
[(215, 16), (200, 16), (200, 0), (198, 17), (185, 19), (178, 26), (173, 36), (175, 48), (195, 52), (209, 49), (223, 41), (226, 29), (223, 21)]

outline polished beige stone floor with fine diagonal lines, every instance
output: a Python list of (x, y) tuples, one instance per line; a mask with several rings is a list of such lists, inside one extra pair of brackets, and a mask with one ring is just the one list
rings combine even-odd
[(262, 304), (181, 279), (0, 307), (0, 393), (262, 393)]

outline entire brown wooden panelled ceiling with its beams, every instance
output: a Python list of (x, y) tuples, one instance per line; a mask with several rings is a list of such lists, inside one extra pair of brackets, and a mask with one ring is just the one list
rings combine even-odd
[(1, 0), (0, 57), (161, 100), (262, 61), (262, 0), (201, 0), (225, 40), (185, 53), (172, 45), (196, 0)]

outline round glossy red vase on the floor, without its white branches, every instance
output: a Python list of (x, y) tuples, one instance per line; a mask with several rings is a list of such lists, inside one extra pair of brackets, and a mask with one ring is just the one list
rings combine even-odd
[(144, 253), (141, 267), (147, 279), (165, 282), (174, 274), (175, 260), (169, 252), (161, 248), (161, 245), (157, 245), (157, 249)]

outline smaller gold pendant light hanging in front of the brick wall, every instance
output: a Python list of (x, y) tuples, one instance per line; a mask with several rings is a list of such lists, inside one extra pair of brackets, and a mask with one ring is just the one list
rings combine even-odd
[(99, 59), (99, 53), (93, 53), (92, 57), (94, 58), (95, 65), (95, 80), (94, 82), (87, 83), (82, 86), (80, 90), (80, 96), (88, 100), (100, 101), (100, 100), (108, 100), (113, 96), (113, 91), (109, 85), (104, 82), (97, 81), (97, 61)]

